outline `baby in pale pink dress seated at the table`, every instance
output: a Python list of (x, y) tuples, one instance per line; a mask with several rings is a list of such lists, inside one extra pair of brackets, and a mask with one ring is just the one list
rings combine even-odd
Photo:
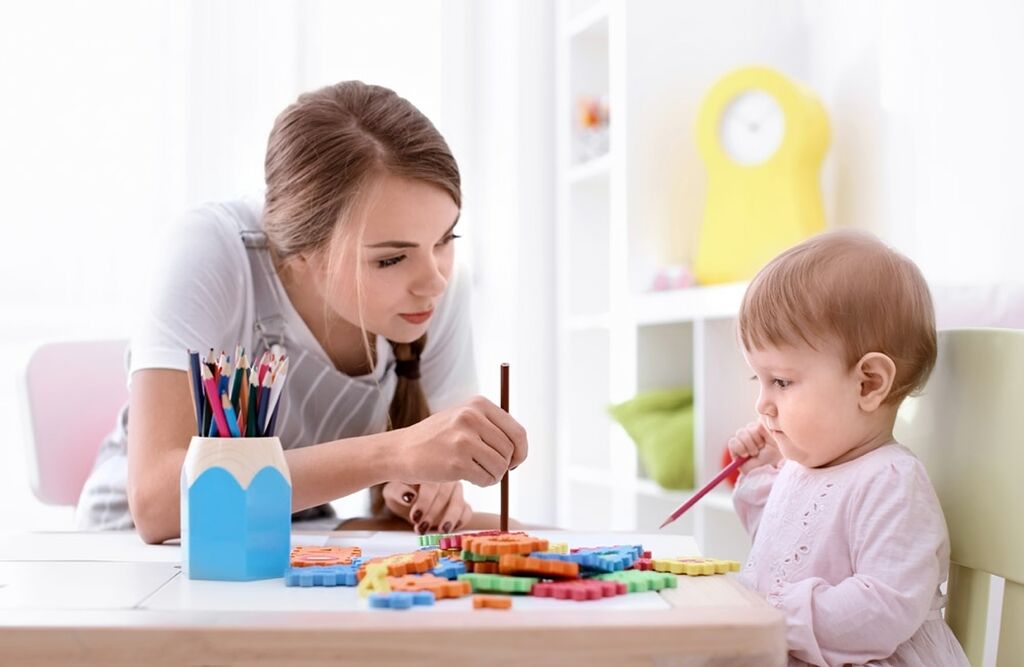
[(949, 569), (924, 466), (893, 440), (935, 364), (918, 267), (867, 234), (783, 252), (751, 283), (739, 340), (758, 420), (729, 441), (754, 540), (740, 578), (786, 619), (791, 665), (968, 665), (942, 620)]

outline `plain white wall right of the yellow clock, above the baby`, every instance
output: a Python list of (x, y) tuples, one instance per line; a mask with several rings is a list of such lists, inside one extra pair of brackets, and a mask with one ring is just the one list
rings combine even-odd
[(1024, 281), (1024, 5), (803, 4), (833, 123), (834, 222), (870, 228), (938, 283)]

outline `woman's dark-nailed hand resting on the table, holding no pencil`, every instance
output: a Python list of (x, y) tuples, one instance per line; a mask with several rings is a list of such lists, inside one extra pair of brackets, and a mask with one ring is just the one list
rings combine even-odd
[(452, 533), (473, 518), (473, 509), (463, 498), (459, 482), (419, 485), (389, 482), (384, 485), (384, 503), (421, 535)]

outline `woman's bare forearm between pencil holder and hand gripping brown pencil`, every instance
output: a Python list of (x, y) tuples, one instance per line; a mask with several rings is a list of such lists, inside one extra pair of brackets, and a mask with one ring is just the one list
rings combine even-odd
[(292, 475), (292, 511), (399, 478), (398, 433), (347, 437), (286, 451)]

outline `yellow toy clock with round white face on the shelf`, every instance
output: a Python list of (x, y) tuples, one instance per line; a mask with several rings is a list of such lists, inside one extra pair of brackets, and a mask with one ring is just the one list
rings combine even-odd
[(708, 92), (696, 131), (708, 166), (697, 282), (748, 280), (824, 228), (828, 120), (812, 92), (768, 68), (736, 70)]

